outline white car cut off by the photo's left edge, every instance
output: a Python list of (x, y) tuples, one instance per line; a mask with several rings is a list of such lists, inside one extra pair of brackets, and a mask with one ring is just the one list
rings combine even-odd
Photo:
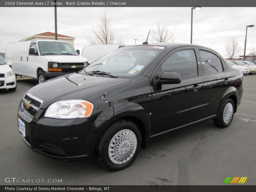
[(10, 67), (11, 62), (6, 62), (3, 57), (0, 56), (0, 89), (9, 89), (9, 91), (15, 91), (16, 76)]

